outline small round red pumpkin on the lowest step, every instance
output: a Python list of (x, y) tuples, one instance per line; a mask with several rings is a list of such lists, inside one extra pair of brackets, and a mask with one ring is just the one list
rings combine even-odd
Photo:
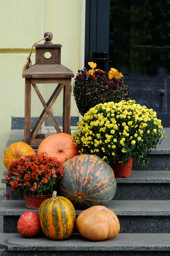
[(41, 230), (38, 215), (31, 211), (23, 213), (18, 220), (17, 229), (25, 237), (37, 235)]

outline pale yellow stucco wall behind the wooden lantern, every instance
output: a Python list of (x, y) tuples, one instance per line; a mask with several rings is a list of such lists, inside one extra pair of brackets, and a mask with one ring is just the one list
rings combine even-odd
[[(11, 117), (24, 116), (22, 70), (31, 46), (43, 38), (43, 2), (0, 0), (0, 178), (5, 170), (4, 149), (11, 132)], [(53, 33), (53, 43), (62, 44), (61, 63), (76, 75), (80, 65), (81, 0), (47, 0), (46, 3), (46, 32)], [(31, 59), (34, 64), (34, 51)], [(31, 115), (38, 116), (41, 103), (33, 90), (31, 104)], [(53, 109), (54, 114), (59, 114), (55, 106)], [(71, 115), (78, 116), (73, 96)], [(0, 182), (2, 187), (4, 184)]]

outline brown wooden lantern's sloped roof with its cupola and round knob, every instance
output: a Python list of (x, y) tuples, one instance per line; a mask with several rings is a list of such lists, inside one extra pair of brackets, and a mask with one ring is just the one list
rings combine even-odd
[[(61, 44), (51, 42), (52, 33), (46, 32), (44, 44), (35, 44), (35, 64), (23, 71), (23, 78), (72, 78), (74, 73), (61, 65)], [(49, 53), (50, 57), (46, 57)]]

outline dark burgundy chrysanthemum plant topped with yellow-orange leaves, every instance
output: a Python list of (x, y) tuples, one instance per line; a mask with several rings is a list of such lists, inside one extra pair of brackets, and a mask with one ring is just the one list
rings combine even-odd
[(107, 73), (96, 69), (94, 62), (88, 64), (91, 70), (79, 70), (73, 83), (74, 99), (82, 116), (97, 104), (130, 99), (131, 93), (121, 79), (122, 73), (113, 68)]

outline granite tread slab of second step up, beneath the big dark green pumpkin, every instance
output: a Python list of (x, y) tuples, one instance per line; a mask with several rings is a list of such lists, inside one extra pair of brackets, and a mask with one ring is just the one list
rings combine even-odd
[[(170, 200), (112, 200), (105, 206), (117, 216), (169, 216)], [(21, 216), (24, 212), (38, 210), (29, 209), (24, 200), (2, 200), (0, 216)], [(78, 216), (83, 210), (76, 210)]]

